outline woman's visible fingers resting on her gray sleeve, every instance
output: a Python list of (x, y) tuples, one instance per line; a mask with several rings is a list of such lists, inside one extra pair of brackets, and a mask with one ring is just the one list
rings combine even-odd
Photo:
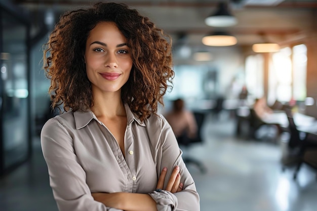
[[(157, 182), (156, 189), (164, 189), (164, 181), (166, 178), (167, 167), (164, 167), (159, 181)], [(175, 166), (174, 170), (171, 174), (169, 182), (164, 190), (170, 191), (171, 193), (179, 192), (183, 189), (183, 184), (180, 182), (180, 173), (179, 173), (179, 166)]]

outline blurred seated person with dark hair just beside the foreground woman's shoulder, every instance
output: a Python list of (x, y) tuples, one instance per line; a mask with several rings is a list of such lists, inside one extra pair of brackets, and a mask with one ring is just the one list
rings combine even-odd
[(185, 109), (184, 100), (174, 100), (172, 110), (168, 112), (165, 117), (170, 123), (179, 143), (184, 144), (187, 138), (195, 138), (197, 123), (192, 112)]

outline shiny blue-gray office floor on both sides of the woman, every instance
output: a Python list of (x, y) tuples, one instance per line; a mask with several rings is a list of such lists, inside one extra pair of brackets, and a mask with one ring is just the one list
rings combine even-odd
[[(269, 141), (235, 138), (234, 120), (209, 115), (204, 143), (184, 149), (207, 172), (188, 163), (201, 197), (202, 211), (315, 211), (316, 172), (303, 166), (294, 181), (293, 167), (282, 172), (281, 146)], [(34, 155), (0, 179), (1, 211), (57, 211), (38, 138)], [(194, 211), (194, 210), (193, 210)]]

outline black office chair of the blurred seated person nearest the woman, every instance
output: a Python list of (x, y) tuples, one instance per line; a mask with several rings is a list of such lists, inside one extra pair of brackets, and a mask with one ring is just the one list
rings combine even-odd
[[(202, 133), (202, 126), (203, 126), (203, 123), (205, 121), (206, 114), (202, 113), (202, 112), (193, 112), (193, 115), (194, 115), (196, 123), (197, 123), (197, 135), (196, 135), (196, 137), (191, 139), (191, 138), (188, 138), (186, 136), (186, 134), (183, 134), (181, 137), (177, 138), (178, 144), (180, 146), (183, 146), (183, 148), (186, 149), (186, 151), (188, 151), (187, 149), (192, 144), (203, 142), (201, 133)], [(206, 173), (207, 168), (205, 167), (205, 165), (201, 161), (199, 161), (193, 157), (190, 157), (187, 154), (186, 153), (183, 154), (184, 162), (186, 164), (194, 164), (195, 166), (197, 166), (200, 169), (200, 171), (202, 173)]]

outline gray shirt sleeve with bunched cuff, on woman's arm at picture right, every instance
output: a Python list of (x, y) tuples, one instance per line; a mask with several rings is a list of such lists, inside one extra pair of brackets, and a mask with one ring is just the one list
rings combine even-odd
[(168, 178), (170, 177), (174, 166), (178, 165), (180, 167), (181, 182), (184, 185), (183, 190), (177, 193), (162, 190), (161, 192), (153, 191), (149, 193), (149, 195), (156, 201), (156, 207), (159, 211), (199, 211), (199, 194), (196, 191), (195, 183), (182, 159), (182, 151), (178, 146), (171, 126), (163, 116), (161, 116), (161, 118), (163, 120), (161, 125), (162, 130), (160, 131), (159, 142), (155, 146), (158, 167), (157, 177), (160, 176), (163, 167), (166, 166), (168, 168), (164, 185), (164, 187), (166, 187)]

